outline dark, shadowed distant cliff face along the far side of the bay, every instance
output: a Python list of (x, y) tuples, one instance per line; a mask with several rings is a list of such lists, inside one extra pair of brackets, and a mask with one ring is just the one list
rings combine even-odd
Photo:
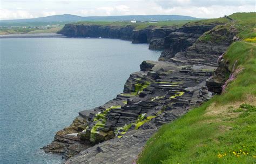
[(104, 25), (73, 25), (66, 24), (59, 33), (68, 37), (115, 38), (131, 40), (132, 43), (149, 43), (151, 50), (164, 50), (160, 60), (173, 57), (174, 54), (184, 51), (216, 24), (205, 26), (182, 26), (181, 28), (148, 26), (136, 30), (134, 26), (104, 26)]

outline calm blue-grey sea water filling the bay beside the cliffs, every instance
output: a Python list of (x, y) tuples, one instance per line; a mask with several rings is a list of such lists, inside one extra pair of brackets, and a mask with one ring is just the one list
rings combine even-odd
[(160, 52), (115, 39), (0, 40), (0, 163), (59, 163), (39, 148), (79, 111), (123, 91), (129, 74)]

